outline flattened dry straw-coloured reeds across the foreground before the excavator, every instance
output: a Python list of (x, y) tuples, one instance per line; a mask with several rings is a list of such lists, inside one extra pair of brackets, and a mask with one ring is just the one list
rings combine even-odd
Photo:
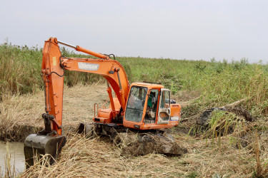
[[(150, 154), (122, 156), (111, 142), (69, 135), (68, 143), (56, 164), (36, 164), (22, 177), (251, 177), (257, 162), (252, 149), (237, 149), (222, 139), (222, 146), (180, 135), (189, 153), (182, 157)], [(212, 142), (212, 140), (209, 140)], [(261, 155), (260, 164), (263, 155)], [(263, 172), (263, 171), (262, 171)]]

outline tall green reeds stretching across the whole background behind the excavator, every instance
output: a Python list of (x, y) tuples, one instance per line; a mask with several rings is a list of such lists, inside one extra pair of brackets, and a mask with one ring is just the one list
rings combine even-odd
[[(0, 46), (0, 95), (4, 93), (33, 93), (43, 88), (41, 80), (42, 49), (27, 46)], [(64, 56), (89, 58), (66, 48)], [(207, 61), (187, 61), (158, 58), (117, 57), (131, 82), (162, 83), (176, 95), (181, 90), (197, 91), (200, 97), (185, 111), (196, 114), (204, 108), (218, 107), (247, 98), (244, 107), (254, 115), (268, 114), (268, 66), (249, 64), (246, 58), (227, 63), (212, 58)], [(66, 71), (64, 82), (73, 86), (104, 82), (100, 75)], [(183, 97), (183, 96), (182, 96)], [(184, 113), (184, 114), (187, 114)]]

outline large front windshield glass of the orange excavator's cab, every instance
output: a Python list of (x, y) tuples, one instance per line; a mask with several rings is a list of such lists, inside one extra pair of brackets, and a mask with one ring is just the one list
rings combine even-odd
[(131, 122), (141, 122), (148, 88), (132, 86), (126, 105), (125, 118)]

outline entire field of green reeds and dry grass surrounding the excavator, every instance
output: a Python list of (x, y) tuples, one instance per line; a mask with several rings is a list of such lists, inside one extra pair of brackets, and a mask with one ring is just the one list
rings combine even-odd
[[(64, 56), (69, 57), (89, 57), (71, 53), (65, 48), (62, 48), (61, 52)], [(85, 137), (70, 134), (68, 136), (70, 141), (67, 143), (69, 147), (63, 150), (62, 155), (64, 156), (56, 165), (44, 167), (43, 164), (38, 164), (28, 172), (24, 172), (24, 176), (55, 177), (56, 174), (59, 174), (61, 177), (65, 177), (68, 173), (70, 176), (82, 176), (78, 170), (84, 174), (96, 173), (98, 165), (101, 167), (105, 163), (107, 163), (105, 167), (107, 172), (105, 174), (97, 172), (96, 177), (268, 176), (267, 65), (250, 64), (246, 58), (229, 63), (225, 60), (215, 61), (214, 59), (207, 62), (116, 57), (116, 60), (124, 66), (130, 82), (144, 80), (159, 82), (165, 88), (172, 90), (172, 98), (183, 106), (182, 123), (179, 127), (172, 129), (172, 134), (177, 142), (187, 147), (189, 154), (179, 158), (154, 154), (125, 157), (121, 156), (120, 150), (109, 142), (87, 140)], [(34, 110), (44, 110), (44, 107), (41, 106), (44, 104), (42, 96), (44, 83), (41, 80), (40, 70), (41, 49), (9, 44), (0, 45), (0, 136), (2, 140), (4, 137), (12, 135), (15, 140), (21, 140), (21, 137), (16, 138), (16, 130), (19, 128), (18, 125), (24, 125), (29, 117), (35, 119), (29, 122), (31, 125), (37, 120), (41, 123), (42, 112), (34, 112)], [(101, 85), (104, 83), (104, 79), (99, 75), (68, 72), (64, 82), (66, 93), (71, 95), (74, 93), (71, 91), (72, 88), (76, 91), (79, 88), (87, 90), (86, 88), (90, 88), (93, 83)], [(76, 85), (79, 87), (77, 88)], [(81, 91), (81, 93), (83, 92)], [(92, 95), (89, 95), (89, 100), (90, 97), (92, 98)], [(104, 95), (96, 93), (96, 91), (93, 97), (106, 99)], [(197, 117), (205, 109), (221, 107), (242, 99), (244, 100), (239, 103), (239, 107), (248, 110), (256, 118), (254, 122), (244, 121), (241, 117), (229, 112), (228, 114), (218, 112), (212, 115), (213, 123), (209, 123), (210, 130), (201, 132), (199, 135), (188, 134)], [(74, 100), (69, 100), (70, 106), (68, 107), (72, 107), (72, 102)], [(93, 104), (86, 103), (86, 105)], [(36, 108), (37, 106), (39, 108)], [(81, 107), (86, 108), (87, 106)], [(27, 112), (28, 110), (29, 112)], [(68, 114), (71, 115), (71, 113)], [(17, 117), (20, 117), (21, 120), (13, 122)], [(76, 119), (81, 120), (83, 116), (79, 115)], [(219, 136), (217, 126), (222, 123), (224, 127), (225, 125), (233, 127), (233, 132), (224, 134), (222, 137)], [(6, 127), (6, 125), (10, 127)], [(38, 126), (41, 127), (41, 124)], [(207, 136), (208, 132), (212, 135)], [(5, 134), (9, 136), (4, 136)], [(244, 140), (248, 144), (242, 147)], [(86, 144), (90, 149), (86, 147)], [(98, 144), (101, 145), (102, 150), (98, 150), (98, 147), (94, 146)], [(83, 145), (84, 149), (78, 152), (78, 145)], [(67, 162), (69, 163), (67, 164)], [(81, 164), (81, 162), (85, 164)], [(120, 168), (114, 169), (114, 162)], [(157, 165), (152, 167), (146, 162)], [(89, 165), (93, 168), (89, 169)]]

